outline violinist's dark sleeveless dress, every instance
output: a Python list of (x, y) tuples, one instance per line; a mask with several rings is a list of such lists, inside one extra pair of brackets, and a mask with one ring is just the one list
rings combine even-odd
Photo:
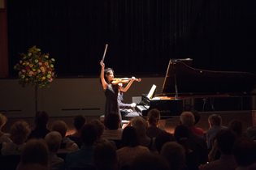
[(118, 85), (108, 84), (105, 90), (106, 104), (105, 104), (105, 117), (108, 113), (118, 113), (120, 120), (122, 120), (119, 105), (117, 102)]

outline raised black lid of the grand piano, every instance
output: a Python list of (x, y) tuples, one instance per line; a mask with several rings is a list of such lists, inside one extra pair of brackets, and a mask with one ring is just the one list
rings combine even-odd
[(191, 67), (192, 61), (190, 58), (170, 60), (163, 83), (163, 95), (176, 93), (176, 87), (178, 94), (190, 95), (248, 94), (256, 87), (255, 74), (195, 69)]

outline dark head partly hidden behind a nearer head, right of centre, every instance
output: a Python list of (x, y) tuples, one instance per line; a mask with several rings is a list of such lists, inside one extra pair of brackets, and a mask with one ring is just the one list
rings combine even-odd
[(173, 141), (176, 141), (176, 139), (173, 137), (172, 134), (167, 133), (166, 131), (163, 131), (160, 134), (158, 134), (158, 136), (155, 138), (155, 141), (154, 141), (155, 147), (158, 153), (160, 154), (161, 149), (166, 142), (173, 142)]

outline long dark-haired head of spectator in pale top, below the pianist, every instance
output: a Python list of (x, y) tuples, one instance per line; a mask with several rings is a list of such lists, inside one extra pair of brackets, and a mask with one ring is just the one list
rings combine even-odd
[(140, 144), (137, 130), (133, 126), (124, 128), (121, 140), (122, 147), (137, 147)]

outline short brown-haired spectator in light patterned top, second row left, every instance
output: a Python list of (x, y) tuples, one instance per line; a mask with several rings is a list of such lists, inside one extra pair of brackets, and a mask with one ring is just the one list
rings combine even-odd
[(51, 130), (59, 132), (62, 136), (62, 141), (57, 153), (68, 153), (70, 151), (77, 151), (79, 147), (76, 143), (66, 137), (67, 134), (67, 124), (64, 121), (54, 121), (51, 124)]

